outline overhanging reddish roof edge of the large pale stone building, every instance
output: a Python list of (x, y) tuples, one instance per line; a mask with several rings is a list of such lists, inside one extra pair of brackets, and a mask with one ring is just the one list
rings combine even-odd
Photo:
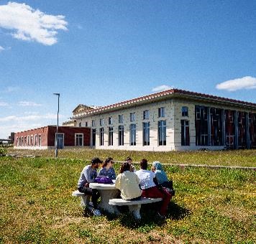
[(143, 95), (138, 98), (132, 98), (130, 100), (124, 100), (119, 103), (114, 103), (111, 105), (106, 105), (98, 108), (94, 108), (88, 111), (82, 111), (81, 113), (78, 113), (71, 117), (71, 119), (74, 118), (81, 118), (83, 116), (87, 115), (93, 115), (97, 113), (106, 113), (108, 111), (116, 111), (120, 110), (122, 108), (128, 108), (134, 105), (144, 104), (144, 103), (152, 103), (157, 100), (163, 100), (166, 98), (183, 98), (188, 100), (204, 100), (211, 103), (221, 103), (222, 105), (236, 105), (243, 108), (250, 108), (250, 109), (256, 109), (256, 103), (250, 103), (242, 100), (235, 100), (231, 98), (223, 98), (216, 95), (208, 95), (204, 93), (195, 93), (188, 90), (180, 90), (180, 89), (170, 89), (170, 90), (163, 90), (158, 93), (152, 93), (150, 95)]

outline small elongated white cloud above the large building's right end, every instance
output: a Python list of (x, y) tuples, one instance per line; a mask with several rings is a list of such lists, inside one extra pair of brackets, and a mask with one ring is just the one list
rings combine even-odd
[(219, 90), (242, 90), (242, 89), (256, 89), (256, 78), (251, 76), (245, 76), (243, 78), (237, 78), (234, 80), (227, 80), (223, 83), (216, 85)]

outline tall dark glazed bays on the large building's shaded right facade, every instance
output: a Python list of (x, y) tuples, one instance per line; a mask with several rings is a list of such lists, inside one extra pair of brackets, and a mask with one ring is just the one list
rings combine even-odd
[(202, 105), (195, 107), (196, 146), (256, 146), (256, 114)]

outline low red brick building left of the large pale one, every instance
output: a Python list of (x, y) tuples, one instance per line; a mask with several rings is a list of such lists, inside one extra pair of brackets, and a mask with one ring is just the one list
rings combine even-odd
[[(54, 149), (57, 126), (45, 126), (14, 135), (14, 148), (17, 149)], [(90, 146), (90, 128), (58, 127), (58, 149), (74, 146)]]

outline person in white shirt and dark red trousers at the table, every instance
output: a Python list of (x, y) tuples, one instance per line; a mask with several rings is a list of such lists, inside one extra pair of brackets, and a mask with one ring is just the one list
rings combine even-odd
[(162, 205), (160, 206), (157, 214), (160, 217), (165, 217), (167, 207), (172, 196), (165, 189), (157, 188), (157, 179), (155, 178), (155, 173), (147, 170), (147, 159), (142, 159), (142, 161), (140, 161), (140, 170), (135, 172), (135, 174), (137, 174), (140, 179), (142, 197), (163, 198)]

